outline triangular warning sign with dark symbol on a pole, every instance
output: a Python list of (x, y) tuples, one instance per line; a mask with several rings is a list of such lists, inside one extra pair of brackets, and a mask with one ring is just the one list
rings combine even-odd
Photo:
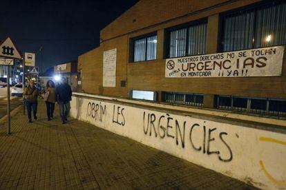
[(7, 37), (0, 44), (0, 56), (7, 57), (7, 58), (21, 59), (21, 55), (17, 47), (14, 45), (14, 43), (10, 39), (10, 37)]

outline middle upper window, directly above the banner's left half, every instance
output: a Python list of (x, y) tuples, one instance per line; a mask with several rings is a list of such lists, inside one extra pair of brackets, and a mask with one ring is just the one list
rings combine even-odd
[(207, 39), (207, 23), (172, 30), (169, 41), (169, 57), (205, 54)]

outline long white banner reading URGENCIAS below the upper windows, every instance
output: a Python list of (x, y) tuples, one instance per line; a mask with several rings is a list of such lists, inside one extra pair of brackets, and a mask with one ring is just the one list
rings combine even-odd
[(285, 46), (166, 59), (165, 77), (281, 76)]

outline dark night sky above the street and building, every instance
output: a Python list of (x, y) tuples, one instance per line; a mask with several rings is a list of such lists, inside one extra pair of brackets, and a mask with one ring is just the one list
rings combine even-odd
[(36, 53), (45, 71), (98, 47), (100, 30), (137, 1), (1, 0), (0, 41), (10, 36), (20, 51)]

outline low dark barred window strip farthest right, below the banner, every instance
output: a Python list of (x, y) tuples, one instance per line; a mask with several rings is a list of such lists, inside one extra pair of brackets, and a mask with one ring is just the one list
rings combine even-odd
[(286, 116), (286, 100), (273, 98), (250, 98), (238, 96), (216, 96), (218, 109), (231, 109), (257, 114)]

